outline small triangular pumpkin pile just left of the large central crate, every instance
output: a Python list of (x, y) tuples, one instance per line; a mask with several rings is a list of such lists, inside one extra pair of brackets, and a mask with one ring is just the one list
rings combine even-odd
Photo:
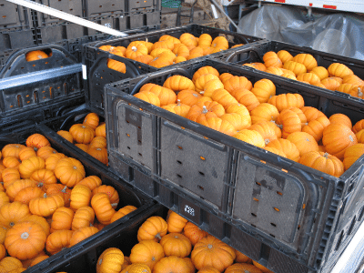
[(74, 124), (68, 131), (59, 130), (57, 134), (108, 166), (106, 124), (99, 121), (96, 113), (89, 113), (82, 124)]

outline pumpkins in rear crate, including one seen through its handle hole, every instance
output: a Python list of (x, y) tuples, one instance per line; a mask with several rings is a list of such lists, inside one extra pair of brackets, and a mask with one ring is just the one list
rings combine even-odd
[[(241, 45), (233, 45), (231, 48)], [(154, 44), (147, 41), (133, 41), (126, 47), (101, 45), (99, 49), (160, 68), (227, 50), (228, 42), (224, 36), (213, 39), (208, 34), (196, 37), (184, 33), (179, 39), (171, 35), (162, 35)], [(113, 59), (107, 60), (107, 67), (126, 73), (125, 64)]]

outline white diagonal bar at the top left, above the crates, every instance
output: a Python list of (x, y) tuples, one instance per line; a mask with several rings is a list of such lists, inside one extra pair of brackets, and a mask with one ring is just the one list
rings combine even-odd
[(118, 31), (116, 29), (109, 28), (109, 27), (107, 27), (105, 25), (99, 25), (99, 24), (96, 24), (94, 22), (88, 21), (86, 19), (74, 16), (74, 15), (66, 14), (64, 12), (56, 10), (55, 8), (52, 8), (52, 7), (49, 7), (49, 6), (46, 6), (46, 5), (41, 5), (39, 3), (35, 3), (35, 2), (30, 1), (30, 0), (6, 0), (6, 1), (10, 2), (10, 3), (13, 3), (15, 5), (23, 5), (25, 7), (34, 9), (34, 10), (36, 10), (38, 12), (41, 12), (41, 13), (44, 13), (46, 15), (52, 15), (52, 16), (55, 16), (57, 18), (61, 18), (61, 19), (64, 19), (66, 21), (75, 23), (76, 25), (83, 25), (83, 26), (86, 26), (88, 28), (92, 28), (92, 29), (95, 29), (97, 31), (104, 32), (104, 33), (109, 34), (109, 35), (127, 36), (125, 33), (121, 32), (121, 31)]

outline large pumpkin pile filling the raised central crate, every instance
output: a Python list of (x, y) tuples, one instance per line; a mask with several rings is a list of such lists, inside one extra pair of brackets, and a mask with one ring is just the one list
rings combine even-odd
[(148, 83), (134, 96), (334, 177), (364, 154), (364, 120), (352, 126), (346, 115), (328, 117), (305, 106), (299, 94), (276, 95), (265, 78), (253, 85), (203, 66), (192, 79), (169, 76), (163, 86)]

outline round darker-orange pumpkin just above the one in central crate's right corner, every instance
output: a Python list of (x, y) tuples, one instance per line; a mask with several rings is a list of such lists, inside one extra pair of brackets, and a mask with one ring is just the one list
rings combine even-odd
[(344, 157), (345, 149), (358, 143), (357, 136), (348, 126), (333, 124), (323, 131), (322, 144), (326, 151), (339, 159)]

